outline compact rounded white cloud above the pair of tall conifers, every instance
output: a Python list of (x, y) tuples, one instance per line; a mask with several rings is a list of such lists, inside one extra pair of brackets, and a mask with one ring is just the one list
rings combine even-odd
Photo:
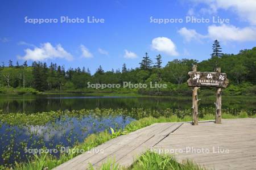
[(177, 56), (176, 46), (171, 39), (167, 37), (156, 37), (152, 40), (151, 48), (159, 52), (166, 53), (170, 56)]

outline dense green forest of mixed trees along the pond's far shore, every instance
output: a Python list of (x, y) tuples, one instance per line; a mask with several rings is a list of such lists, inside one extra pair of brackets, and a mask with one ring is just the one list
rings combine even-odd
[[(68, 68), (46, 62), (32, 62), (28, 66), (27, 61), (14, 64), (9, 61), (8, 66), (2, 63), (0, 67), (0, 93), (8, 93), (18, 89), (20, 94), (26, 92), (95, 92), (87, 89), (86, 83), (166, 83), (167, 89), (107, 89), (105, 92), (135, 92), (148, 95), (170, 95), (175, 92), (187, 95), (190, 89), (187, 87), (188, 71), (193, 64), (197, 65), (198, 71), (214, 71), (221, 67), (221, 72), (226, 73), (229, 79), (229, 94), (256, 94), (256, 47), (253, 49), (240, 50), (238, 54), (222, 54), (219, 42), (213, 44), (211, 57), (204, 61), (195, 59), (174, 59), (166, 66), (162, 66), (162, 56), (150, 57), (148, 53), (142, 58), (135, 69), (127, 68), (123, 63), (121, 69), (105, 71), (101, 66), (94, 74), (86, 67)], [(10, 90), (11, 89), (11, 90)], [(14, 90), (15, 91), (15, 90)], [(102, 92), (98, 90), (98, 92)]]

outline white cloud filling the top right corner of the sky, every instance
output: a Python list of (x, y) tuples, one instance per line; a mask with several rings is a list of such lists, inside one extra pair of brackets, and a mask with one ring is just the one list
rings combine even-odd
[(204, 3), (208, 8), (201, 11), (217, 12), (218, 9), (234, 11), (242, 20), (256, 25), (256, 1), (255, 0), (191, 0), (195, 3)]

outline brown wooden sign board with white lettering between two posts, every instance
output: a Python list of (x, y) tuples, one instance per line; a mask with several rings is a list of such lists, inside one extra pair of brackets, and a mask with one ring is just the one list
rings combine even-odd
[(192, 87), (208, 86), (226, 88), (229, 83), (226, 73), (189, 71), (188, 75), (190, 76), (187, 81), (188, 86)]

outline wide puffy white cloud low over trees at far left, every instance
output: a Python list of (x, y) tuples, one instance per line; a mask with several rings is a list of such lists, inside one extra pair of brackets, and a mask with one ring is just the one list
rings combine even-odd
[(41, 44), (40, 47), (34, 49), (25, 49), (25, 56), (18, 56), (19, 59), (32, 60), (32, 61), (43, 61), (46, 59), (64, 58), (67, 60), (72, 60), (73, 57), (70, 53), (64, 50), (64, 48), (57, 44), (52, 46), (51, 43), (46, 42)]

